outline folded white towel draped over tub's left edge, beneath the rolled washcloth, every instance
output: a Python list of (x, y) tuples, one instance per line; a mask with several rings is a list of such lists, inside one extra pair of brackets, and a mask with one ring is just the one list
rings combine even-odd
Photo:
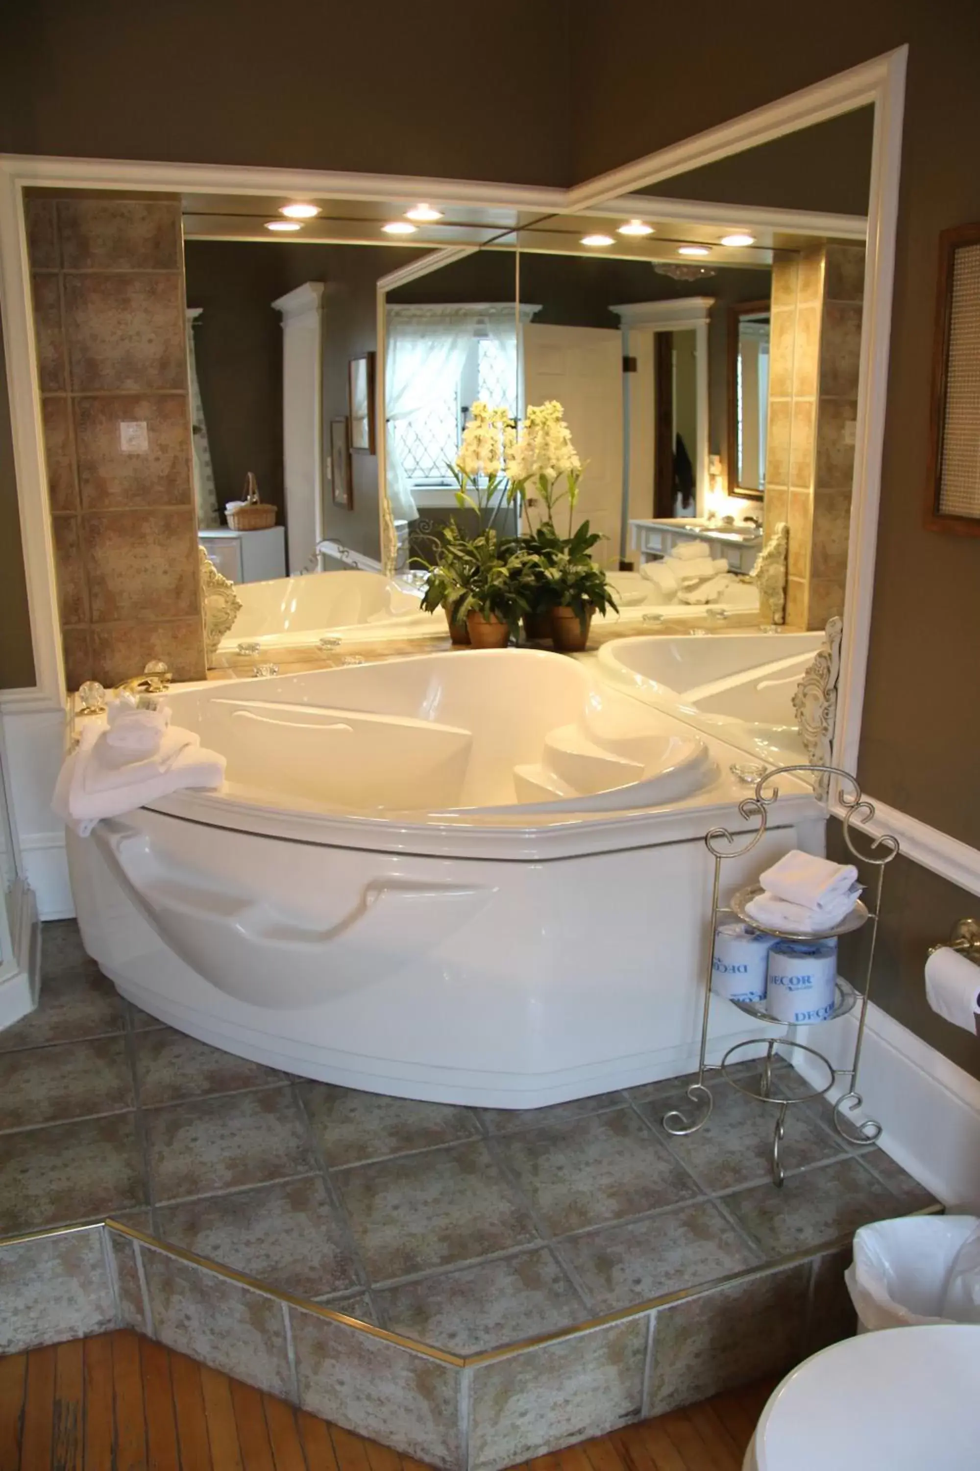
[(122, 763), (123, 753), (107, 744), (107, 736), (101, 724), (87, 725), (54, 787), (51, 809), (79, 837), (88, 837), (100, 818), (122, 816), (188, 787), (213, 790), (225, 780), (225, 758), (204, 750), (194, 731), (170, 727), (153, 756)]

